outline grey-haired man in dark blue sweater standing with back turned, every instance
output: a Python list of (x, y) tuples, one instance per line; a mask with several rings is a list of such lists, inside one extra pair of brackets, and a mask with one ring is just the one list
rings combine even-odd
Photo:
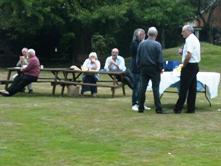
[(148, 38), (141, 42), (137, 50), (137, 66), (140, 69), (141, 88), (139, 92), (139, 111), (144, 112), (145, 93), (149, 80), (152, 81), (154, 104), (156, 113), (162, 114), (159, 85), (160, 74), (163, 72), (162, 47), (156, 41), (158, 32), (155, 27), (150, 27), (147, 32)]

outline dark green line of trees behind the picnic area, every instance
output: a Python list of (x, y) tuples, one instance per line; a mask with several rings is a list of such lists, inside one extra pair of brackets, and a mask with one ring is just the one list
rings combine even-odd
[(1, 0), (0, 43), (15, 55), (24, 46), (35, 48), (44, 63), (79, 64), (93, 50), (103, 61), (113, 47), (128, 57), (138, 27), (156, 26), (164, 47), (180, 43), (183, 23), (199, 15), (202, 2), (206, 0)]

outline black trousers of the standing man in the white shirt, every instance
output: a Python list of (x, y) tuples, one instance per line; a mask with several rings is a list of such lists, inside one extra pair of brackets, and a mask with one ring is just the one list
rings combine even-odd
[(179, 98), (174, 107), (175, 113), (180, 113), (187, 98), (187, 112), (195, 112), (196, 75), (199, 71), (198, 63), (188, 63), (181, 70)]

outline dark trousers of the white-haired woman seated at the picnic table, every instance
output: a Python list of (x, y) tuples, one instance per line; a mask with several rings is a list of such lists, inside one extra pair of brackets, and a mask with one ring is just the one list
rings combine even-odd
[[(96, 84), (97, 77), (95, 75), (84, 75), (83, 76), (83, 83)], [(95, 94), (95, 93), (97, 93), (97, 86), (82, 85), (81, 94), (83, 94), (86, 91), (91, 91), (91, 94)]]

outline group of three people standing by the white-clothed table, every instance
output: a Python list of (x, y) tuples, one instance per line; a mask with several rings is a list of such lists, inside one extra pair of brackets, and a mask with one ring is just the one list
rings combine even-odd
[[(193, 27), (185, 25), (181, 35), (185, 38), (185, 45), (181, 50), (182, 70), (180, 76), (179, 97), (174, 106), (174, 113), (181, 113), (184, 103), (187, 100), (187, 113), (195, 112), (196, 101), (196, 75), (199, 71), (200, 62), (200, 42), (193, 34)], [(149, 80), (152, 81), (154, 105), (156, 113), (165, 113), (162, 109), (159, 94), (161, 73), (163, 73), (162, 46), (156, 41), (158, 31), (155, 27), (150, 27), (145, 39), (145, 31), (138, 28), (134, 31), (131, 42), (131, 71), (133, 73), (133, 93), (132, 110), (139, 113), (145, 110), (145, 93)]]

